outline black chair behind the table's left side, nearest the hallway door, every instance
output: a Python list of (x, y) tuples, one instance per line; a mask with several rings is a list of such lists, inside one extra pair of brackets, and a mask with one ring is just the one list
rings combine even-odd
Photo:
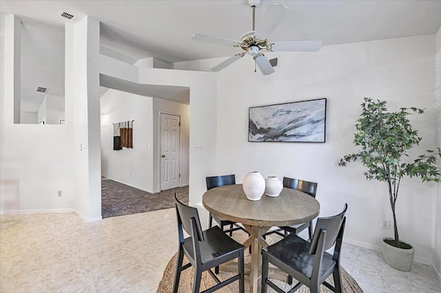
[[(225, 185), (233, 185), (236, 184), (236, 176), (233, 175), (220, 175), (220, 176), (210, 176), (205, 177), (205, 182), (207, 183), (207, 191), (209, 191), (212, 188), (225, 186)], [(222, 219), (220, 217), (217, 217), (216, 215), (212, 215), (212, 213), (209, 213), (208, 218), (208, 226), (213, 226), (213, 219), (216, 221), (216, 223), (220, 226), (220, 229), (224, 230), (225, 226), (229, 226), (225, 232), (229, 233), (229, 236), (233, 235), (233, 231), (236, 230), (243, 230), (249, 235), (249, 232), (245, 230), (245, 228), (238, 226), (238, 224), (234, 221), (229, 221), (226, 219)]]

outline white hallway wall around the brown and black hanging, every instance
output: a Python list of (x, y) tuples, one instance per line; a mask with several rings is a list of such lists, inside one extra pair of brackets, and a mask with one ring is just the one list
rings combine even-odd
[[(113, 150), (113, 124), (134, 120), (133, 149)], [(152, 193), (152, 98), (109, 89), (101, 97), (101, 175)]]

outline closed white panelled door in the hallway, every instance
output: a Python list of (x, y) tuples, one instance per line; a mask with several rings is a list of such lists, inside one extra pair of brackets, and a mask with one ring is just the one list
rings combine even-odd
[(161, 191), (181, 186), (181, 117), (161, 113)]

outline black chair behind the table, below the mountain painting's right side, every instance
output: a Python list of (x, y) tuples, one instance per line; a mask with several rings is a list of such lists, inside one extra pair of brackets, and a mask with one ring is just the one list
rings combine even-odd
[[(318, 184), (316, 182), (283, 177), (283, 187), (295, 189), (296, 191), (302, 191), (304, 193), (307, 193), (308, 195), (311, 195), (311, 197), (314, 198), (316, 197), (317, 185)], [(302, 230), (305, 230), (306, 228), (308, 228), (309, 239), (312, 239), (312, 220), (302, 224), (279, 227), (279, 229), (267, 232), (265, 234), (265, 237), (273, 233), (285, 237), (286, 235), (288, 235), (288, 232), (298, 235), (298, 233), (302, 232)]]

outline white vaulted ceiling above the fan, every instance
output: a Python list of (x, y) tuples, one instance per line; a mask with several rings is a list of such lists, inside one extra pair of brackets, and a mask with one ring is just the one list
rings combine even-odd
[[(441, 26), (439, 0), (263, 0), (256, 10), (256, 28), (265, 21), (269, 3), (290, 8), (269, 41), (322, 40), (323, 45), (335, 45), (434, 34)], [(239, 39), (252, 30), (252, 9), (246, 0), (0, 1), (1, 14), (62, 28), (67, 20), (58, 15), (60, 11), (74, 14), (76, 21), (85, 15), (99, 19), (101, 45), (132, 61), (152, 56), (167, 62), (231, 56), (238, 49), (192, 42), (190, 37), (200, 33)]]

